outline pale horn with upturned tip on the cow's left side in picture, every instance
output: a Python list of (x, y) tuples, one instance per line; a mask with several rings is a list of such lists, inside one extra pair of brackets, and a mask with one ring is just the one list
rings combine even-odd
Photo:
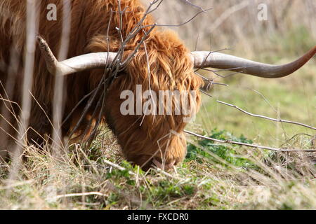
[(67, 76), (89, 69), (104, 69), (108, 64), (111, 64), (117, 56), (115, 52), (96, 52), (58, 62), (44, 38), (37, 36), (37, 41), (48, 71), (58, 76)]

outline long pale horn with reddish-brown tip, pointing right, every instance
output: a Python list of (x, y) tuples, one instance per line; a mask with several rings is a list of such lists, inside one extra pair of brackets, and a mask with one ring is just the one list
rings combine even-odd
[(316, 46), (302, 57), (289, 64), (273, 65), (254, 62), (249, 59), (225, 55), (220, 52), (197, 51), (191, 53), (195, 69), (212, 67), (246, 73), (263, 78), (279, 78), (288, 76), (298, 70), (316, 53)]

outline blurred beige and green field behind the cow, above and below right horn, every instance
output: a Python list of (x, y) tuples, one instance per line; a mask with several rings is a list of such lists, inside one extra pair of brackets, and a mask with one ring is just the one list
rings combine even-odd
[[(199, 1), (190, 3), (200, 6), (201, 13), (186, 25), (166, 27), (178, 32), (190, 50), (224, 50), (223, 52), (259, 62), (283, 64), (300, 57), (316, 45), (316, 1)], [(267, 19), (258, 20), (261, 8), (267, 6)], [(186, 1), (164, 1), (155, 12), (160, 25), (178, 25), (200, 9)], [(316, 125), (316, 59), (285, 78), (275, 80), (237, 74), (220, 78), (205, 71), (204, 76), (213, 78), (210, 94), (204, 95), (204, 104), (192, 128), (202, 127), (228, 130), (236, 135), (244, 134), (257, 143), (279, 146), (298, 133), (315, 134), (296, 125), (273, 123), (253, 118), (216, 100), (235, 104), (251, 113), (294, 120)], [(231, 73), (231, 72), (230, 72)], [(224, 73), (221, 73), (224, 74)], [(302, 146), (308, 147), (308, 146)]]

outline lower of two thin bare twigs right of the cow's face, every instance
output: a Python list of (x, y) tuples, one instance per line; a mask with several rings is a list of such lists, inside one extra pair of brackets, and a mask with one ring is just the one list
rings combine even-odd
[(196, 134), (194, 132), (190, 132), (185, 130), (184, 131), (187, 134), (191, 134), (195, 137), (199, 137), (201, 139), (208, 139), (211, 141), (216, 141), (216, 142), (220, 142), (220, 143), (225, 143), (225, 144), (234, 144), (234, 145), (239, 145), (239, 146), (247, 146), (247, 147), (252, 147), (252, 148), (261, 148), (261, 149), (268, 149), (270, 151), (278, 151), (278, 152), (302, 152), (302, 153), (312, 153), (312, 152), (316, 152), (316, 150), (313, 149), (305, 149), (305, 150), (298, 150), (298, 149), (282, 149), (282, 148), (272, 148), (272, 147), (268, 147), (268, 146), (258, 146), (258, 145), (254, 145), (254, 144), (247, 144), (247, 143), (242, 143), (239, 141), (230, 141), (230, 140), (220, 140), (220, 139), (213, 139), (210, 137), (205, 137), (201, 134)]

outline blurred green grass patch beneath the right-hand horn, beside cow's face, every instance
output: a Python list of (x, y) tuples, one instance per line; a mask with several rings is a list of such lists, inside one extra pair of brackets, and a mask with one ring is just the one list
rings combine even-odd
[[(312, 64), (310, 68), (316, 69)], [(217, 127), (237, 135), (246, 133), (254, 141), (271, 145), (286, 141), (297, 133), (315, 134), (313, 130), (301, 126), (247, 116), (237, 109), (216, 102), (220, 100), (254, 114), (294, 120), (315, 127), (316, 98), (313, 96), (316, 94), (316, 83), (313, 78), (309, 80), (312, 73), (307, 78), (304, 70), (281, 80), (244, 77), (230, 83), (229, 87), (216, 86), (211, 92), (213, 99), (204, 97), (196, 123), (206, 130)]]

